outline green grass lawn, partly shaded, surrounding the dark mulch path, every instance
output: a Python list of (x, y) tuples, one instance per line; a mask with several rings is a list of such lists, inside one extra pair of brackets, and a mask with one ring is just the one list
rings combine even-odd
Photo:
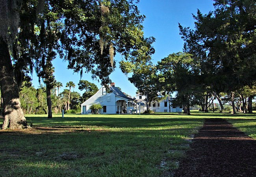
[(189, 135), (203, 118), (213, 117), (227, 118), (256, 138), (256, 114), (54, 114), (50, 120), (46, 115), (26, 115), (33, 129), (0, 130), (0, 174), (169, 175), (189, 148)]

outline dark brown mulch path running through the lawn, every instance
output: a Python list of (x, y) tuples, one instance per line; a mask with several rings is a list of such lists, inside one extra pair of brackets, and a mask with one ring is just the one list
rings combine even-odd
[(221, 118), (206, 119), (174, 176), (256, 176), (256, 140)]

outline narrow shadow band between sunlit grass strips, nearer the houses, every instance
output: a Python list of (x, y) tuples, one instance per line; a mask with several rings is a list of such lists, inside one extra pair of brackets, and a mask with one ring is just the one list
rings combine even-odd
[(107, 126), (107, 127), (163, 127), (171, 125), (201, 124), (202, 118), (52, 118), (44, 119), (31, 117), (36, 127), (54, 126)]

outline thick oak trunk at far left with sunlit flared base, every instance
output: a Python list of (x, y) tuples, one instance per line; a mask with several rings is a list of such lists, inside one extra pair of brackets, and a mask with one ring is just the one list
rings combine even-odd
[(26, 128), (27, 121), (20, 106), (19, 89), (15, 81), (7, 42), (0, 38), (0, 89), (4, 103), (2, 129)]

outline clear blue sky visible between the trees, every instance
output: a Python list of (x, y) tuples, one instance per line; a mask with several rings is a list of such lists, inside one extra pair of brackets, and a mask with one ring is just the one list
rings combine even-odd
[[(194, 19), (192, 13), (196, 14), (197, 9), (200, 9), (203, 14), (206, 14), (214, 9), (213, 0), (140, 0), (137, 6), (141, 14), (146, 16), (143, 22), (145, 37), (154, 36), (156, 38), (156, 42), (153, 44), (156, 52), (152, 55), (154, 64), (157, 64), (157, 61), (171, 53), (182, 51), (184, 41), (179, 35), (178, 23), (182, 26), (193, 28)], [(115, 61), (118, 63), (121, 58), (122, 56), (117, 53)], [(53, 66), (55, 67), (54, 76), (56, 80), (63, 84), (60, 92), (65, 89), (66, 83), (69, 81), (75, 83), (74, 91), (81, 94), (84, 92), (78, 89), (80, 74), (68, 70), (66, 62), (56, 58), (53, 61)], [(121, 87), (123, 92), (131, 96), (135, 96), (137, 88), (128, 81), (128, 77), (121, 72), (118, 64), (115, 71), (110, 75), (110, 79), (115, 82), (115, 86)], [(84, 73), (82, 79), (95, 83), (98, 88), (101, 87), (100, 82), (91, 79), (91, 74)], [(35, 88), (39, 86), (35, 73), (33, 74), (32, 83)]]

